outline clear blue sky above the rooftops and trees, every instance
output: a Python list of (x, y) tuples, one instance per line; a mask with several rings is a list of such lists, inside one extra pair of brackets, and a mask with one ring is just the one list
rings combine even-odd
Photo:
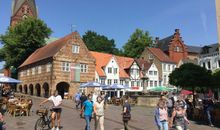
[[(0, 0), (0, 34), (10, 23), (11, 0)], [(121, 48), (136, 28), (165, 38), (180, 29), (188, 45), (217, 42), (214, 0), (36, 0), (53, 37), (87, 30), (115, 39)]]

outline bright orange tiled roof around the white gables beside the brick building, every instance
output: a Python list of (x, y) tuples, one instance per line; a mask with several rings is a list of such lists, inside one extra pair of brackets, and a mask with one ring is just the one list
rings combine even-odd
[(92, 56), (96, 59), (96, 72), (99, 76), (106, 76), (103, 67), (105, 67), (112, 57), (116, 58), (116, 62), (119, 65), (119, 77), (129, 78), (129, 74), (126, 69), (129, 69), (133, 64), (134, 59), (129, 57), (114, 56), (112, 54), (90, 51)]

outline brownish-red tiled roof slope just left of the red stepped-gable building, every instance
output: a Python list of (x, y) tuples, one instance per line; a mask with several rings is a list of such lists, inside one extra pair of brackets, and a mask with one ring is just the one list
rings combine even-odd
[(169, 58), (161, 49), (159, 48), (150, 48), (148, 47), (151, 53), (155, 55), (161, 62), (170, 62), (175, 63), (173, 60)]

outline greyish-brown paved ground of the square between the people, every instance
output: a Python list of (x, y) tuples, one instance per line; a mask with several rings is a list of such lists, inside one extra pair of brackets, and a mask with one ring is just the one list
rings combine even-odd
[[(38, 116), (35, 114), (39, 108), (37, 104), (43, 98), (33, 97), (34, 105), (32, 107), (31, 116), (11, 117), (5, 116), (7, 130), (33, 130)], [(50, 103), (48, 103), (50, 105)], [(85, 121), (79, 117), (79, 110), (73, 108), (74, 103), (71, 100), (63, 101), (61, 130), (84, 130)], [(105, 130), (122, 130), (123, 124), (121, 120), (121, 106), (109, 105), (105, 112)], [(132, 119), (129, 122), (131, 130), (157, 130), (154, 124), (153, 108), (132, 107)], [(92, 130), (94, 130), (94, 120), (91, 121)], [(209, 127), (206, 125), (191, 122), (191, 130), (220, 130), (217, 127)]]

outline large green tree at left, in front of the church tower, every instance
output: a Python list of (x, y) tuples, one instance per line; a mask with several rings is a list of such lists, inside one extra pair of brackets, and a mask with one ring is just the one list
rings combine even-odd
[(51, 33), (51, 29), (42, 20), (22, 20), (0, 36), (3, 44), (0, 59), (5, 61), (6, 68), (18, 68), (36, 49), (45, 45), (45, 38)]

